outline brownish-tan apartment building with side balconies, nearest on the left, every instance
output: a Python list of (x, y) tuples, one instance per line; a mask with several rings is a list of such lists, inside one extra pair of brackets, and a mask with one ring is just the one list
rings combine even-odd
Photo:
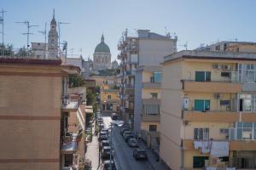
[(26, 54), (0, 53), (0, 169), (78, 169), (84, 110), (67, 79), (79, 68)]

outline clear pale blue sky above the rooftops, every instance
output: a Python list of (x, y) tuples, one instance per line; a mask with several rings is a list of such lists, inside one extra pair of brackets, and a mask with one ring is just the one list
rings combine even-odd
[[(4, 13), (4, 42), (15, 48), (26, 46), (26, 26), (17, 21), (30, 21), (30, 42), (44, 42), (38, 31), (52, 19), (69, 22), (61, 25), (61, 42), (67, 41), (73, 57), (84, 59), (94, 53), (102, 33), (112, 60), (117, 58), (117, 44), (128, 29), (148, 29), (165, 35), (177, 35), (177, 49), (183, 50), (218, 41), (256, 42), (256, 1), (254, 0), (0, 0)], [(0, 27), (0, 31), (1, 27)], [(2, 39), (2, 35), (0, 35)], [(73, 48), (73, 50), (72, 50)], [(82, 49), (82, 51), (81, 51)], [(77, 54), (77, 55), (76, 55)], [(71, 56), (71, 55), (70, 55)]]

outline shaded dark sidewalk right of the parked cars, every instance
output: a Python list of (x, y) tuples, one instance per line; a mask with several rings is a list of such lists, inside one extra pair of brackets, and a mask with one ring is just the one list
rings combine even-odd
[(148, 147), (141, 141), (138, 143), (140, 148), (143, 148), (148, 153), (148, 162), (154, 170), (168, 170), (165, 165), (156, 161), (156, 157), (153, 155), (152, 150), (149, 150)]

